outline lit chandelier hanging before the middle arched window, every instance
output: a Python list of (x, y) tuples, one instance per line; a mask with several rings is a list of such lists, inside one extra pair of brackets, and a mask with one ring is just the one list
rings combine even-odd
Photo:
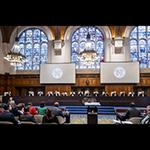
[(79, 53), (79, 56), (80, 56), (81, 60), (84, 60), (84, 62), (87, 65), (91, 65), (97, 59), (97, 53), (92, 48), (92, 41), (91, 41), (91, 36), (90, 36), (89, 32), (87, 34), (86, 39), (87, 39), (87, 42), (85, 43), (85, 49), (84, 49), (84, 51)]

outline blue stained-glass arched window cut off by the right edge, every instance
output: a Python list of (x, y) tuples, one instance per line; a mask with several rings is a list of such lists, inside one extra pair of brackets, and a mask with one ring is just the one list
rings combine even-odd
[(138, 26), (132, 30), (130, 58), (139, 61), (140, 68), (150, 68), (150, 26)]

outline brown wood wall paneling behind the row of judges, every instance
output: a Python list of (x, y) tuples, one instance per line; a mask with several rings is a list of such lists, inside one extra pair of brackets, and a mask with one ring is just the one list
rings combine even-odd
[[(60, 92), (68, 92), (70, 93), (73, 89), (104, 89), (108, 93), (111, 91), (117, 91), (117, 94), (120, 91), (125, 91), (128, 93), (129, 91), (134, 91), (136, 89), (142, 88), (147, 91), (147, 95), (150, 96), (150, 74), (145, 73), (140, 75), (140, 83), (139, 84), (101, 84), (99, 74), (77, 74), (76, 75), (76, 84), (40, 84), (39, 75), (0, 75), (0, 94), (3, 94), (4, 91), (11, 91), (13, 95), (18, 95), (19, 93), (27, 92), (30, 88), (36, 91), (38, 88), (42, 88), (45, 90), (45, 94), (47, 91), (60, 91)], [(21, 90), (19, 91), (19, 88)], [(21, 95), (22, 95), (21, 94)]]

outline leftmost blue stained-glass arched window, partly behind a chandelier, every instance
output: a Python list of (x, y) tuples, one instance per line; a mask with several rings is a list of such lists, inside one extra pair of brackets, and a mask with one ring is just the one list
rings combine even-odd
[(19, 35), (20, 52), (26, 62), (17, 65), (17, 70), (39, 70), (41, 63), (47, 62), (48, 37), (38, 28), (29, 28)]

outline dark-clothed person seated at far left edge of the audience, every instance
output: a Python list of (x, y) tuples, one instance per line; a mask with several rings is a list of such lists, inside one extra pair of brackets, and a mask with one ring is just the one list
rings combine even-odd
[(17, 121), (15, 119), (15, 116), (13, 115), (13, 113), (11, 113), (9, 111), (8, 104), (3, 104), (0, 107), (1, 107), (0, 121), (9, 121), (9, 122), (12, 122), (15, 125), (17, 125), (19, 123), (19, 121)]

